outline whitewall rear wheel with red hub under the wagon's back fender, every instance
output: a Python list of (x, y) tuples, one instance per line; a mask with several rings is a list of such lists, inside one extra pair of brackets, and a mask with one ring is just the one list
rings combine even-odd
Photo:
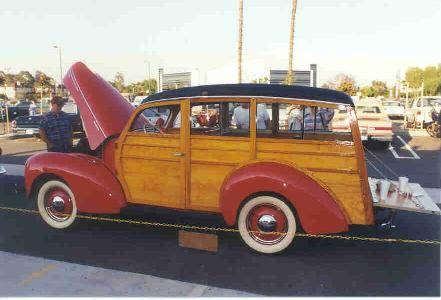
[(238, 227), (250, 248), (260, 253), (277, 253), (292, 243), (297, 224), (285, 202), (272, 196), (258, 196), (240, 210)]

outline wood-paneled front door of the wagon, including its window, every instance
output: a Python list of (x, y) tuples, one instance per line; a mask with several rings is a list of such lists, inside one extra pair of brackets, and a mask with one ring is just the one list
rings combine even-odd
[(129, 202), (185, 208), (187, 107), (185, 101), (145, 105), (123, 133), (117, 167)]

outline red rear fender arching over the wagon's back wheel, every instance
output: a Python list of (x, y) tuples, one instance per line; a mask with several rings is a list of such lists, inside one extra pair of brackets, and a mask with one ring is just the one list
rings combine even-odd
[(343, 209), (325, 188), (293, 166), (277, 162), (251, 163), (239, 167), (226, 178), (220, 194), (225, 222), (234, 225), (241, 203), (258, 193), (276, 193), (286, 198), (308, 233), (348, 230)]

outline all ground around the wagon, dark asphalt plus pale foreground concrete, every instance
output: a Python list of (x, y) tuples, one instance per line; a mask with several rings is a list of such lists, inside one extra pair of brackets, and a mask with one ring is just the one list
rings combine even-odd
[[(420, 159), (397, 159), (387, 149), (371, 149), (366, 157), (387, 177), (409, 176), (436, 194), (439, 140), (402, 138)], [(0, 143), (6, 149), (0, 163), (8, 169), (0, 175), (0, 206), (35, 209), (14, 186), (23, 182), (26, 157), (44, 145)], [(400, 157), (412, 157), (398, 138), (392, 146)], [(11, 155), (20, 152), (27, 153)], [(375, 172), (369, 168), (370, 176), (379, 177)], [(217, 216), (139, 207), (119, 217), (224, 226)], [(396, 224), (390, 232), (354, 226), (348, 235), (440, 240), (439, 216), (400, 212)], [(298, 237), (284, 253), (265, 256), (235, 233), (218, 236), (219, 251), (210, 253), (180, 248), (174, 229), (78, 220), (72, 229), (57, 231), (38, 215), (0, 211), (0, 296), (440, 295), (437, 245)]]

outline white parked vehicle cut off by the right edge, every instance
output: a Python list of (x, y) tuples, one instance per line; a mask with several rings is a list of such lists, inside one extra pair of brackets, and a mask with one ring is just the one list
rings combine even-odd
[(439, 106), (441, 106), (441, 96), (425, 96), (413, 100), (406, 112), (407, 121), (415, 125), (423, 124), (423, 127), (426, 127), (427, 124), (433, 122), (433, 108)]

